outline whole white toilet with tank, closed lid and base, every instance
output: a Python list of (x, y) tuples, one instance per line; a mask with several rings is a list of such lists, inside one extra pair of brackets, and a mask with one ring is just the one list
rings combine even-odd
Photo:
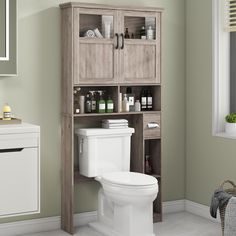
[(133, 128), (78, 129), (80, 174), (96, 177), (98, 220), (90, 223), (106, 236), (154, 236), (156, 178), (130, 171)]

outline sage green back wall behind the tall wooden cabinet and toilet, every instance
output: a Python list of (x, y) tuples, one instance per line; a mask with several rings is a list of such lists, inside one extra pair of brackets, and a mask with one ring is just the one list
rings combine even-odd
[[(60, 215), (60, 10), (58, 0), (21, 0), (17, 77), (0, 77), (0, 106), (41, 127), (41, 214), (0, 222)], [(185, 1), (86, 1), (164, 7), (162, 41), (163, 200), (185, 196)], [(11, 170), (9, 170), (11, 171)], [(97, 183), (76, 187), (76, 211), (96, 209)], [(17, 196), (16, 196), (17, 197)]]

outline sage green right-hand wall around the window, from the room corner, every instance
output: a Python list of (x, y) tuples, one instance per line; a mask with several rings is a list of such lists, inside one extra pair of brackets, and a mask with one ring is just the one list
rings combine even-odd
[(186, 4), (186, 198), (209, 205), (222, 180), (236, 181), (236, 146), (212, 136), (211, 0)]

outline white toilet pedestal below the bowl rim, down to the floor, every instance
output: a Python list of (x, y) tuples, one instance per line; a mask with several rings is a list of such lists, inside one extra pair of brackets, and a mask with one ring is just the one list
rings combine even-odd
[(105, 236), (155, 236), (152, 202), (121, 204), (107, 198), (101, 188), (98, 193), (98, 220), (89, 226)]

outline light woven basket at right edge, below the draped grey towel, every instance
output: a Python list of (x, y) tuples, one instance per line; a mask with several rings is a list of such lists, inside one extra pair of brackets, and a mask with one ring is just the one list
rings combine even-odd
[(224, 236), (236, 235), (236, 197), (230, 198), (225, 211)]

